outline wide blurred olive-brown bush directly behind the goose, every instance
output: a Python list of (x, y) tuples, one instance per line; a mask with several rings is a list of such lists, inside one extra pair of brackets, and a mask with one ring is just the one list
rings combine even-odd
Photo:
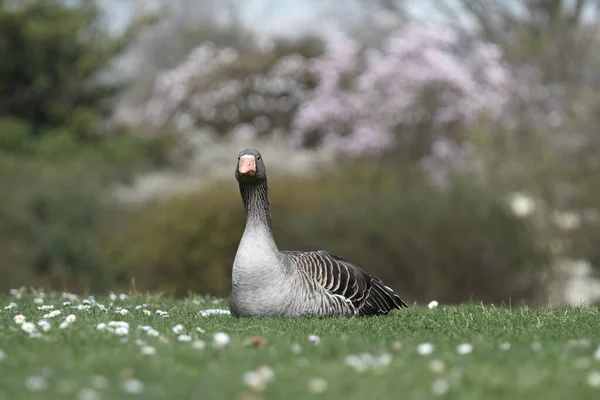
[[(468, 179), (447, 189), (425, 182), (391, 162), (342, 164), (314, 180), (274, 177), (279, 248), (331, 251), (409, 300), (540, 300), (536, 273), (547, 259), (527, 222)], [(236, 185), (222, 186), (132, 212), (107, 247), (123, 283), (226, 295), (244, 216)]]

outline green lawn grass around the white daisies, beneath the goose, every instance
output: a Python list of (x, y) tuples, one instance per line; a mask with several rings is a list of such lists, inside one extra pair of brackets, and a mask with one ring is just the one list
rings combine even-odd
[[(362, 319), (234, 319), (199, 315), (202, 309), (225, 307), (224, 302), (205, 298), (135, 296), (113, 302), (97, 298), (107, 311), (97, 307), (86, 311), (63, 306), (67, 299), (50, 295), (45, 304), (54, 305), (62, 314), (48, 319), (52, 324), (48, 332), (32, 338), (14, 317), (22, 314), (32, 322), (42, 319), (49, 311), (38, 310), (34, 298), (0, 296), (2, 308), (11, 302), (18, 305), (0, 311), (1, 399), (562, 400), (600, 396), (600, 388), (589, 382), (597, 374), (594, 371), (600, 372), (600, 360), (594, 358), (600, 343), (597, 308), (465, 305), (434, 310), (414, 307), (388, 317)], [(80, 300), (73, 305), (81, 304)], [(135, 309), (143, 303), (152, 315)], [(115, 307), (126, 307), (128, 313), (121, 315)], [(157, 309), (168, 311), (169, 317), (157, 315)], [(68, 314), (76, 315), (75, 322), (60, 329)], [(97, 329), (97, 324), (112, 320), (128, 322), (129, 334), (117, 336)], [(199, 350), (193, 341), (178, 341), (172, 332), (176, 324), (207, 347)], [(140, 325), (151, 326), (159, 337), (137, 329)], [(229, 346), (213, 348), (215, 332), (230, 335)], [(319, 336), (320, 344), (309, 341), (309, 335)], [(249, 344), (253, 336), (264, 338), (267, 344), (253, 347)], [(138, 339), (156, 353), (141, 354)], [(427, 342), (435, 350), (419, 354), (417, 346)], [(300, 352), (294, 343), (300, 345)], [(472, 344), (473, 351), (458, 354), (456, 348), (462, 343)], [(503, 350), (501, 343), (511, 346)], [(347, 356), (362, 353), (389, 354), (391, 361), (362, 372), (345, 363)], [(271, 367), (275, 377), (264, 391), (253, 391), (243, 376), (261, 365)], [(311, 391), (312, 378), (327, 381), (325, 392)], [(142, 393), (124, 391), (123, 385), (132, 379), (143, 383)], [(45, 385), (32, 391), (36, 382)], [(448, 391), (436, 394), (434, 388), (445, 384)]]

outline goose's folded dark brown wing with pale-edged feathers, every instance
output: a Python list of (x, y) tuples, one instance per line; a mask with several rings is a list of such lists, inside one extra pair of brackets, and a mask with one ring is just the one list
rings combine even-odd
[(323, 250), (281, 253), (327, 293), (352, 304), (358, 315), (387, 314), (408, 307), (381, 280), (342, 257)]

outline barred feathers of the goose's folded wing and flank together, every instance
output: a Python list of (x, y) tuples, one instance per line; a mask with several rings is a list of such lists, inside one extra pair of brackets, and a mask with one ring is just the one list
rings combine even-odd
[[(304, 298), (311, 315), (384, 315), (408, 307), (381, 280), (339, 256), (323, 250), (281, 251), (304, 281)], [(314, 301), (317, 300), (317, 301)]]

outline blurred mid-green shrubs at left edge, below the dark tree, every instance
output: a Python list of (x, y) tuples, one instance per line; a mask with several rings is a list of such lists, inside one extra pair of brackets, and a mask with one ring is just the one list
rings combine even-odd
[(23, 143), (27, 155), (0, 151), (0, 286), (106, 288), (101, 233), (120, 215), (107, 189), (164, 162), (169, 143), (68, 131)]

